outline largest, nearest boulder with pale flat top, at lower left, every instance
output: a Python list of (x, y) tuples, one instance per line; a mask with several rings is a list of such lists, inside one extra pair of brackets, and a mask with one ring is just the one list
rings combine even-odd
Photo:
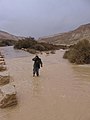
[(0, 108), (6, 108), (17, 104), (15, 86), (11, 84), (0, 87)]

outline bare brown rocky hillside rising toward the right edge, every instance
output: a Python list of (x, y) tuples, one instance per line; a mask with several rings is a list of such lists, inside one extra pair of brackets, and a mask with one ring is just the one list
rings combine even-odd
[(52, 43), (52, 44), (70, 45), (70, 44), (75, 44), (79, 40), (83, 40), (83, 39), (87, 39), (90, 41), (90, 23), (81, 25), (77, 29), (70, 32), (39, 38), (39, 41)]

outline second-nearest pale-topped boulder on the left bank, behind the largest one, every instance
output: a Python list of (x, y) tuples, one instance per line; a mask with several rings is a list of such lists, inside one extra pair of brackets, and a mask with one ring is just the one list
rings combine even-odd
[(0, 85), (5, 85), (10, 82), (10, 75), (7, 71), (0, 72)]

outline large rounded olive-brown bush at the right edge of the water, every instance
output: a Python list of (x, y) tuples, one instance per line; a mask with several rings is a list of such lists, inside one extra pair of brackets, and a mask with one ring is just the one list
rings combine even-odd
[(71, 63), (89, 64), (90, 63), (90, 43), (87, 40), (79, 41), (76, 45), (65, 52), (63, 58)]

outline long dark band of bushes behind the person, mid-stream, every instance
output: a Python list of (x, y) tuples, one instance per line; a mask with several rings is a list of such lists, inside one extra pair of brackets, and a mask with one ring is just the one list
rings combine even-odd
[(17, 49), (35, 49), (37, 51), (48, 51), (48, 50), (56, 50), (59, 49), (60, 46), (52, 45), (48, 43), (39, 43), (34, 40), (34, 38), (25, 38), (23, 40), (19, 40), (15, 43), (14, 48)]

